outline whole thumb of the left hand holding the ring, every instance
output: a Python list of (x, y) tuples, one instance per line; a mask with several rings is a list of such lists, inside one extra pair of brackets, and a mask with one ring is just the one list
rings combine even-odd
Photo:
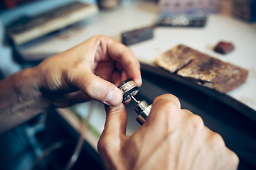
[(97, 77), (90, 71), (80, 72), (74, 80), (75, 86), (78, 86), (90, 98), (109, 106), (117, 106), (122, 103), (122, 93), (117, 86)]

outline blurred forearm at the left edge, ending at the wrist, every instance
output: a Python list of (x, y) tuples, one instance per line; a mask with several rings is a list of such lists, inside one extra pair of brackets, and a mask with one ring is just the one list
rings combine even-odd
[(36, 68), (0, 81), (0, 133), (26, 122), (48, 108), (38, 86)]

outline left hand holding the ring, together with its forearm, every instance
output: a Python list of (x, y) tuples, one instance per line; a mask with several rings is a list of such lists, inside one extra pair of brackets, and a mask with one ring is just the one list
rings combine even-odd
[(96, 35), (0, 81), (0, 133), (50, 106), (67, 107), (91, 99), (118, 106), (122, 94), (117, 85), (127, 78), (142, 84), (132, 51)]

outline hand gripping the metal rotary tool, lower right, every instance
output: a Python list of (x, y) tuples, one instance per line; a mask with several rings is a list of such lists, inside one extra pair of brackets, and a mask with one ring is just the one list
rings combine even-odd
[(98, 150), (107, 169), (237, 169), (237, 155), (198, 115), (180, 108), (178, 98), (159, 96), (146, 122), (125, 135), (123, 104), (107, 106)]

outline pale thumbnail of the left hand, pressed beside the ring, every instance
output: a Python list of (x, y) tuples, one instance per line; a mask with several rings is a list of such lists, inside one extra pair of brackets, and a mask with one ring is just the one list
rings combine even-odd
[(119, 89), (114, 89), (107, 94), (105, 103), (110, 106), (117, 106), (122, 103), (122, 94)]

